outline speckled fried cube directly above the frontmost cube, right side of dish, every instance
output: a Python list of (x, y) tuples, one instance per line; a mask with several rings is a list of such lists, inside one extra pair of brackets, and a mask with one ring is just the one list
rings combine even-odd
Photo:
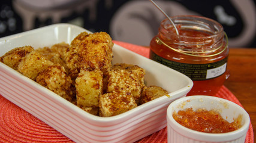
[(109, 72), (107, 92), (130, 92), (135, 101), (141, 94), (141, 85), (135, 71), (116, 69)]

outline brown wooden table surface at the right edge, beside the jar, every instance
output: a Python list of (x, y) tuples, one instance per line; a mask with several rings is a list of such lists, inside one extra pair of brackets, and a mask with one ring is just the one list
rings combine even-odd
[(224, 85), (248, 112), (256, 141), (256, 48), (230, 48), (227, 68), (230, 77)]

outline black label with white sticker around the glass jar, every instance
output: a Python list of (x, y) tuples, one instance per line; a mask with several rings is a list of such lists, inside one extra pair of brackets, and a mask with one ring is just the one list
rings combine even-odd
[(177, 70), (185, 74), (192, 80), (207, 80), (221, 76), (227, 68), (227, 57), (215, 63), (208, 64), (186, 64), (176, 61), (170, 61), (156, 55), (150, 50), (150, 58), (158, 63), (164, 64), (171, 69)]

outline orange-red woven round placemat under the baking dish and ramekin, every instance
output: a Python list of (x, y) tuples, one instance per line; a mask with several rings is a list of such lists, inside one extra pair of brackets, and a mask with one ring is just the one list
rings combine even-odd
[[(137, 52), (144, 57), (148, 57), (149, 55), (149, 49), (143, 46), (118, 41), (115, 41), (115, 43), (130, 49), (131, 51)], [(225, 88), (225, 86), (222, 86), (218, 94), (216, 94), (216, 97), (225, 98), (241, 105), (237, 98)], [(0, 142), (73, 141), (0, 95)], [(167, 142), (167, 128), (165, 127), (137, 142)], [(254, 142), (254, 133), (251, 124), (245, 142)]]

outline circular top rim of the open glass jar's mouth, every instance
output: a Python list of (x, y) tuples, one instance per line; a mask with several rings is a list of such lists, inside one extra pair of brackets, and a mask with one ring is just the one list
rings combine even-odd
[[(207, 17), (202, 17), (198, 15), (176, 15), (170, 18), (171, 20), (173, 20), (178, 30), (179, 30), (179, 27), (181, 28), (182, 26), (186, 28), (188, 28), (188, 26), (191, 26), (191, 29), (198, 30), (198, 31), (204, 30), (211, 33), (211, 35), (209, 36), (200, 36), (200, 37), (193, 37), (193, 38), (203, 38), (203, 37), (211, 38), (224, 33), (224, 29), (220, 23)], [(173, 25), (170, 23), (170, 21), (167, 18), (161, 21), (161, 27), (164, 28), (165, 32), (167, 32), (170, 35), (191, 38), (191, 36), (177, 35), (176, 32), (170, 32), (170, 30), (168, 29), (170, 29), (170, 27), (173, 27)]]

